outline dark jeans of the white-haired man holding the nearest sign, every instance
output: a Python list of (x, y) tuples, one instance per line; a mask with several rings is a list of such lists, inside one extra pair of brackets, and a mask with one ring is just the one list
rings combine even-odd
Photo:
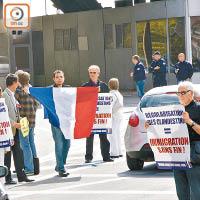
[(200, 166), (191, 170), (174, 170), (176, 192), (179, 200), (200, 199)]

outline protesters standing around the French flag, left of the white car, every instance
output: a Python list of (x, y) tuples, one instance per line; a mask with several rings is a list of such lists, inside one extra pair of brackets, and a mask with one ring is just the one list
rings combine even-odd
[[(106, 134), (99, 134), (101, 144), (101, 154), (104, 162), (113, 162), (113, 158), (122, 157), (120, 144), (120, 130), (122, 123), (121, 108), (123, 107), (123, 96), (120, 94), (119, 81), (117, 78), (109, 80), (108, 85), (99, 80), (100, 68), (92, 65), (88, 69), (90, 80), (82, 85), (82, 87), (98, 87), (99, 93), (112, 93), (112, 134), (107, 138)], [(50, 87), (70, 87), (64, 85), (65, 76), (61, 70), (56, 70), (53, 73), (54, 84)], [(39, 174), (39, 159), (37, 157), (36, 146), (34, 142), (34, 128), (36, 111), (39, 102), (35, 100), (29, 93), (30, 74), (24, 71), (17, 71), (16, 74), (8, 74), (6, 77), (6, 86), (2, 97), (5, 98), (5, 103), (8, 108), (8, 114), (11, 122), (14, 142), (10, 149), (6, 148), (4, 162), (1, 157), (1, 165), (8, 167), (8, 175), (6, 176), (5, 184), (16, 184), (16, 181), (11, 176), (11, 151), (13, 154), (14, 165), (18, 182), (31, 182), (28, 176)], [(44, 113), (46, 111), (44, 110)], [(29, 122), (29, 134), (24, 137), (21, 131), (20, 119), (27, 117)], [(55, 142), (56, 167), (60, 177), (67, 177), (69, 173), (65, 169), (67, 155), (70, 149), (70, 139), (65, 139), (60, 128), (51, 124), (53, 140)], [(85, 162), (90, 163), (93, 159), (93, 140), (94, 135), (91, 134), (86, 139), (86, 155)], [(11, 151), (10, 151), (11, 150)]]

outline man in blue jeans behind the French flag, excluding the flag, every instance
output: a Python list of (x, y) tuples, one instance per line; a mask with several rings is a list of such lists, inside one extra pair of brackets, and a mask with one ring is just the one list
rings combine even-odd
[[(56, 70), (53, 73), (54, 85), (52, 87), (70, 87), (69, 85), (64, 85), (65, 77), (64, 72), (61, 70)], [(58, 172), (60, 177), (67, 177), (69, 173), (66, 172), (64, 165), (66, 164), (67, 155), (70, 148), (70, 140), (65, 139), (60, 128), (57, 128), (51, 124), (51, 130), (53, 134), (53, 139), (55, 142), (55, 154), (56, 154), (56, 167), (55, 171)]]

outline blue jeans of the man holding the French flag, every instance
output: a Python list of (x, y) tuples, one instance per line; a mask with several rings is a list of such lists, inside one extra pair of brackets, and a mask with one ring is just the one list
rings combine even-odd
[(65, 139), (60, 128), (51, 125), (53, 139), (55, 142), (55, 154), (56, 154), (56, 171), (64, 170), (66, 164), (67, 155), (70, 148), (70, 140)]

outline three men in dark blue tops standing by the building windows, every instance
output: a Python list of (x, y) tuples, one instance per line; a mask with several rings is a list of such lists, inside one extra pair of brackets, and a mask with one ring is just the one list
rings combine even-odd
[[(178, 55), (179, 62), (175, 64), (174, 73), (176, 75), (177, 83), (181, 81), (190, 81), (193, 75), (192, 64), (185, 61), (184, 53)], [(134, 55), (132, 57), (132, 62), (135, 65), (133, 72), (130, 73), (130, 76), (133, 77), (136, 82), (136, 89), (138, 97), (141, 99), (144, 95), (144, 86), (146, 80), (145, 67), (140, 62), (140, 57)], [(153, 54), (153, 61), (151, 66), (148, 68), (149, 73), (152, 73), (152, 82), (153, 87), (161, 87), (167, 85), (167, 65), (165, 60), (161, 57), (160, 52), (156, 51)]]

